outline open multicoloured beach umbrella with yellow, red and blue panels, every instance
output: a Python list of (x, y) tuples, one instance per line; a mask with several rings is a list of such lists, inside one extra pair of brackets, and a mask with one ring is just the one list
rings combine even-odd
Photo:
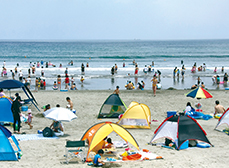
[(189, 93), (186, 94), (187, 97), (197, 98), (197, 99), (208, 99), (212, 98), (212, 94), (209, 93), (207, 90), (203, 89), (202, 87), (198, 87)]

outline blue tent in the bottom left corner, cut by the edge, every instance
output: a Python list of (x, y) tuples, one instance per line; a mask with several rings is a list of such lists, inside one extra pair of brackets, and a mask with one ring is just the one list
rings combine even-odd
[[(9, 141), (10, 138), (12, 139), (12, 143), (15, 143), (15, 149)], [(19, 143), (11, 132), (2, 125), (0, 125), (0, 142), (0, 161), (18, 160), (18, 156), (20, 156), (21, 152)]]

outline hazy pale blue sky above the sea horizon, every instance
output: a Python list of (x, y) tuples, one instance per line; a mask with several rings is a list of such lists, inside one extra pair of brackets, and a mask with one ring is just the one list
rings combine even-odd
[(0, 0), (0, 39), (229, 39), (229, 0)]

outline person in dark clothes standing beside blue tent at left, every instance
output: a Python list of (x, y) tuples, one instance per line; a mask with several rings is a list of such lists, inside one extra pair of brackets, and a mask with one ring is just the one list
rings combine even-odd
[[(17, 98), (13, 101), (13, 104), (11, 106), (11, 111), (13, 113), (13, 117), (14, 117), (14, 123), (13, 123), (13, 129), (14, 129), (14, 133), (18, 133), (20, 134), (20, 127), (21, 127), (21, 119), (20, 119), (20, 106), (21, 106), (21, 97), (17, 96)], [(16, 130), (16, 123), (17, 123), (17, 130)]]

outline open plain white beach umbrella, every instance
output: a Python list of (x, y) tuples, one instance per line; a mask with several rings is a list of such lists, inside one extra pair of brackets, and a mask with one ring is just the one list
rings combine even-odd
[(70, 122), (77, 118), (77, 116), (70, 110), (62, 107), (54, 107), (45, 111), (44, 116), (48, 119), (55, 121), (67, 121)]

